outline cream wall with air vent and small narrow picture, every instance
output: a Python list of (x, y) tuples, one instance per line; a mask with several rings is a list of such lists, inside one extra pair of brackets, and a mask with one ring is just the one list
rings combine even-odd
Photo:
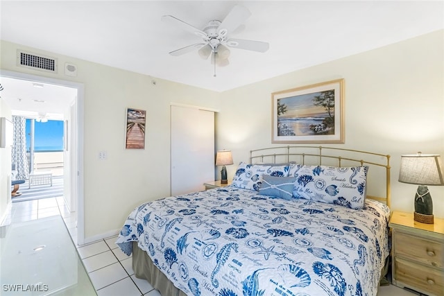
[[(76, 64), (77, 77), (16, 66), (16, 51)], [(83, 83), (85, 241), (117, 233), (135, 207), (170, 192), (170, 103), (219, 109), (218, 94), (1, 41), (0, 69)], [(153, 85), (152, 80), (156, 81)], [(146, 110), (144, 150), (125, 149), (126, 108)], [(108, 158), (99, 160), (99, 151)], [(1, 175), (0, 177), (4, 177)]]

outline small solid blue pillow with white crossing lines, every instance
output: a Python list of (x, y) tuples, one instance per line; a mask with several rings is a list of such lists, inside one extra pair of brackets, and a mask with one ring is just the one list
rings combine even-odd
[(262, 175), (262, 184), (259, 194), (270, 195), (283, 200), (293, 199), (293, 186), (296, 177), (273, 177)]

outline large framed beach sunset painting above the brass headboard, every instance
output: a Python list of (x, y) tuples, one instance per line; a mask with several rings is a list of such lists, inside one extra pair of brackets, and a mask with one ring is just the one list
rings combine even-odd
[(343, 79), (271, 94), (271, 143), (344, 143)]

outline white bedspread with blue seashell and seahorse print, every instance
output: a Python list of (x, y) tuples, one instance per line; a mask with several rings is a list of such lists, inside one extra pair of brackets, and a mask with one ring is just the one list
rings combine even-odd
[(389, 216), (227, 186), (142, 204), (116, 243), (137, 241), (187, 295), (376, 295)]

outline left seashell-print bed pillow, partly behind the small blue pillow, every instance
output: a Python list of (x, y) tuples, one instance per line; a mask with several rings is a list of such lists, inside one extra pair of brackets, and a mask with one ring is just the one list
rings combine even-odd
[(234, 174), (232, 185), (238, 188), (259, 191), (262, 175), (287, 177), (288, 174), (289, 166), (267, 166), (241, 162)]

